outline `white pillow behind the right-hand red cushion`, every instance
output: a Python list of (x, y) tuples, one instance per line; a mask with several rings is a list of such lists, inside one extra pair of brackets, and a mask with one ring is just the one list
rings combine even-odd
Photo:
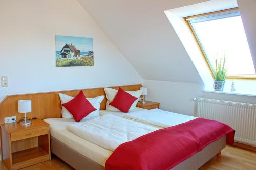
[[(108, 99), (108, 101), (106, 101), (106, 110), (111, 110), (111, 111), (119, 111), (119, 109), (115, 108), (114, 106), (109, 105), (110, 102), (112, 102), (117, 94), (117, 90), (113, 89), (113, 88), (108, 88), (108, 87), (104, 87), (105, 93), (106, 93), (106, 99)], [(142, 90), (137, 90), (137, 91), (125, 91), (126, 93), (131, 94), (132, 96), (134, 96), (135, 98), (137, 98), (137, 100), (135, 100), (132, 104), (132, 106), (130, 107), (129, 111), (133, 110), (136, 108), (136, 105), (139, 101), (139, 97), (142, 94)], [(125, 101), (124, 101), (125, 102)]]

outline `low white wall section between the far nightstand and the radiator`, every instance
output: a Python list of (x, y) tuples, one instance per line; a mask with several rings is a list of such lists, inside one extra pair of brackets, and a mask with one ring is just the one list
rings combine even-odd
[(202, 85), (168, 81), (144, 80), (148, 88), (146, 100), (160, 102), (160, 109), (175, 113), (196, 115), (196, 102), (201, 96)]

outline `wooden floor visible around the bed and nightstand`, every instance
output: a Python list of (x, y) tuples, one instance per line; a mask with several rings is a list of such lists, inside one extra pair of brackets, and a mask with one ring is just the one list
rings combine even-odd
[[(7, 170), (5, 165), (0, 163), (1, 170)], [(39, 163), (27, 168), (24, 170), (66, 170), (73, 169), (65, 162), (61, 161), (58, 157), (52, 155), (52, 161), (47, 161), (43, 163)], [(221, 156), (215, 156), (211, 160), (209, 160), (204, 166), (200, 168), (200, 170), (255, 170), (256, 169), (256, 152), (250, 151), (238, 147), (230, 147), (227, 146), (222, 150)]]

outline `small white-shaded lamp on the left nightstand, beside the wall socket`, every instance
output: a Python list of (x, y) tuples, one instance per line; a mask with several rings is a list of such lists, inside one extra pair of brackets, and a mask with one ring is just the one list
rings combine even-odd
[(20, 125), (30, 125), (31, 122), (26, 117), (26, 113), (31, 112), (31, 100), (19, 100), (18, 101), (18, 112), (25, 113), (25, 120), (20, 122)]

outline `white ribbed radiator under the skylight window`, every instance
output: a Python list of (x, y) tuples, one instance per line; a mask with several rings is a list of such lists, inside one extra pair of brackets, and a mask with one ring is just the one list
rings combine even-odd
[(197, 98), (197, 116), (229, 125), (236, 141), (256, 147), (256, 104)]

